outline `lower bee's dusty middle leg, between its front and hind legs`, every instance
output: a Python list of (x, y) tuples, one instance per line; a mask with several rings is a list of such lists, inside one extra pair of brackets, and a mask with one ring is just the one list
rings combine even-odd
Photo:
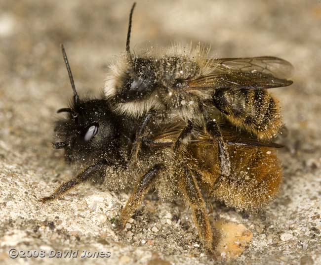
[(139, 181), (135, 187), (134, 192), (128, 199), (125, 207), (122, 209), (119, 225), (124, 227), (128, 219), (135, 213), (137, 208), (141, 205), (144, 196), (149, 191), (150, 187), (155, 181), (158, 172), (163, 168), (163, 164), (156, 164), (152, 167)]

